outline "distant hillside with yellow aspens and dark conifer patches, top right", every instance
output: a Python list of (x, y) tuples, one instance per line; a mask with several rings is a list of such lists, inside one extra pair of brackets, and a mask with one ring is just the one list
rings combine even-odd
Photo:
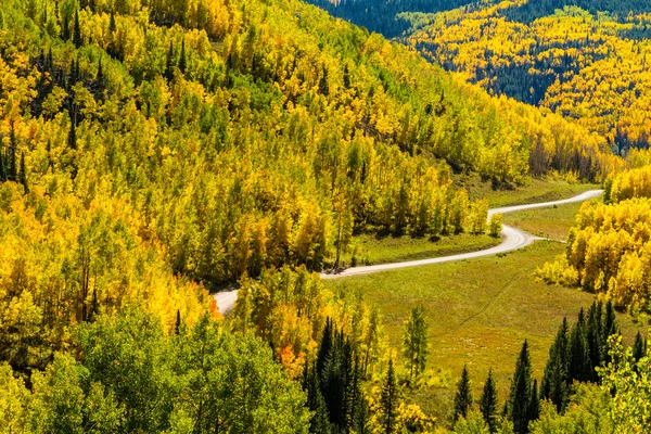
[(649, 145), (648, 2), (502, 1), (427, 20), (409, 43), (446, 69), (573, 119), (617, 151)]

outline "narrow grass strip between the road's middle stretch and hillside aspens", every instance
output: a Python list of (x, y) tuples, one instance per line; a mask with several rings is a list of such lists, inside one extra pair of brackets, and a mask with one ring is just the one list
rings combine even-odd
[(357, 265), (401, 263), (475, 252), (489, 248), (499, 244), (499, 239), (489, 235), (471, 235), (468, 233), (442, 237), (438, 240), (431, 240), (429, 237), (361, 234), (354, 238), (353, 245), (355, 247), (343, 257), (346, 265), (352, 264), (353, 256), (357, 258)]

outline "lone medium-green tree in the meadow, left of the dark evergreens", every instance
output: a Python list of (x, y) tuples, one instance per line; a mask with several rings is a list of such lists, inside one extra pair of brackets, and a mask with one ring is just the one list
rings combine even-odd
[(403, 355), (407, 360), (407, 368), (412, 380), (425, 370), (429, 353), (427, 331), (425, 308), (422, 305), (416, 306), (411, 309), (407, 321), (405, 321), (403, 336)]

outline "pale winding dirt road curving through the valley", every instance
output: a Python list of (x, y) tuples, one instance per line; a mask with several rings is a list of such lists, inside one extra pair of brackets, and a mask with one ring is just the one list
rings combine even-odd
[[(602, 193), (603, 193), (603, 190), (589, 190), (589, 191), (586, 191), (574, 197), (564, 199), (561, 201), (544, 202), (544, 203), (527, 204), (527, 205), (505, 206), (501, 208), (493, 208), (493, 209), (488, 210), (488, 218), (490, 218), (490, 216), (493, 216), (494, 214), (497, 214), (497, 213), (508, 214), (508, 213), (515, 213), (519, 210), (546, 208), (546, 207), (550, 207), (550, 206), (554, 206), (554, 205), (565, 205), (565, 204), (571, 204), (571, 203), (589, 201), (590, 199), (600, 196)], [(499, 253), (516, 251), (519, 248), (526, 247), (527, 245), (532, 244), (536, 240), (539, 240), (538, 237), (532, 235), (531, 233), (527, 233), (520, 229), (510, 227), (508, 225), (502, 226), (501, 235), (502, 235), (502, 242), (499, 245), (496, 245), (495, 247), (486, 248), (483, 251), (478, 251), (478, 252), (462, 253), (459, 255), (451, 255), (451, 256), (441, 256), (441, 257), (435, 257), (435, 258), (430, 258), (430, 259), (409, 260), (409, 261), (405, 261), (405, 263), (354, 267), (354, 268), (347, 268), (344, 270), (322, 272), (321, 278), (322, 279), (341, 279), (341, 278), (350, 277), (350, 276), (369, 275), (369, 273), (379, 272), (379, 271), (396, 270), (399, 268), (419, 267), (419, 266), (432, 265), (432, 264), (450, 263), (450, 261), (455, 261), (455, 260), (473, 259), (473, 258), (478, 258), (478, 257), (483, 257), (483, 256), (490, 256), (490, 255), (497, 255)], [(230, 310), (233, 309), (237, 298), (238, 298), (237, 290), (219, 292), (219, 293), (215, 294), (215, 301), (217, 302), (217, 306), (219, 307), (219, 310), (224, 315), (228, 314)]]

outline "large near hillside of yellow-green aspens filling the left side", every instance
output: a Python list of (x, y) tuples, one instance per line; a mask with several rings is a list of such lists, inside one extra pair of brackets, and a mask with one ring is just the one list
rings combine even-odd
[(483, 232), (455, 174), (623, 165), (297, 0), (5, 0), (0, 119), (0, 432), (425, 431), (380, 314), (314, 271)]

